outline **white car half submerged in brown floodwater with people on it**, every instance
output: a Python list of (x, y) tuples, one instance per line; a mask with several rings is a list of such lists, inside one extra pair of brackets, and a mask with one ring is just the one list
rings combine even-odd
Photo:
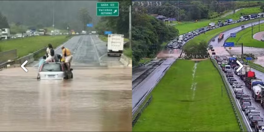
[(73, 78), (73, 69), (63, 62), (46, 62), (39, 69), (37, 79), (62, 80)]

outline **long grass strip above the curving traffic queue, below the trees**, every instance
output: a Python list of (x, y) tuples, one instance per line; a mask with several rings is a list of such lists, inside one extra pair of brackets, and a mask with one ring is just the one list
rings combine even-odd
[(186, 22), (174, 22), (176, 25), (175, 27), (179, 30), (179, 34), (184, 34), (188, 33), (190, 31), (193, 31), (194, 29), (198, 29), (204, 26), (207, 26), (210, 22), (216, 22), (221, 19), (226, 20), (226, 19), (233, 19), (233, 20), (238, 20), (241, 15), (249, 15), (253, 13), (259, 13), (262, 12), (259, 7), (252, 7), (252, 8), (243, 8), (236, 12), (235, 14), (227, 15), (224, 18), (214, 18), (214, 19), (207, 19), (207, 20), (198, 20), (197, 22), (192, 22), (192, 21), (186, 21)]

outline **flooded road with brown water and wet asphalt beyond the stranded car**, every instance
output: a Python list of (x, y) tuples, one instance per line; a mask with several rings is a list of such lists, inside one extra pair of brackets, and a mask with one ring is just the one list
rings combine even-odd
[(106, 43), (96, 35), (75, 36), (64, 46), (73, 53), (71, 80), (37, 81), (30, 65), (27, 73), (0, 71), (0, 131), (131, 131), (132, 68), (119, 57), (101, 61)]

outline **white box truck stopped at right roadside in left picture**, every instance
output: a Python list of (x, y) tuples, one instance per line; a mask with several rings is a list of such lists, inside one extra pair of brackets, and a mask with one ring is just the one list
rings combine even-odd
[(124, 35), (109, 34), (107, 41), (107, 55), (112, 54), (119, 55), (123, 54), (124, 48)]

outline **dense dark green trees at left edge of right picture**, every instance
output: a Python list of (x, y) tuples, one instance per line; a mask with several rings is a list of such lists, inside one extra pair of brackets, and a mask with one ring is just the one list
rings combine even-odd
[(132, 39), (133, 65), (141, 58), (154, 58), (162, 48), (162, 44), (178, 36), (178, 29), (165, 25), (162, 21), (147, 14), (146, 10), (133, 11)]

